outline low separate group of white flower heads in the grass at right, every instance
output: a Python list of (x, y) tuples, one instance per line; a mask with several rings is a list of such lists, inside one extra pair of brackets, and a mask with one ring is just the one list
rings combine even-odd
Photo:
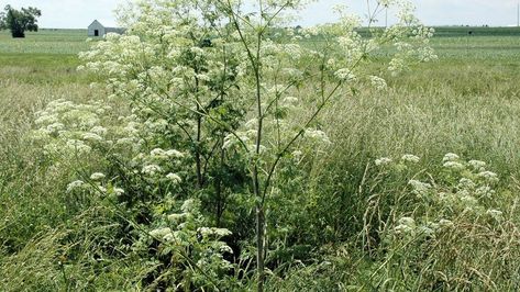
[[(406, 156), (406, 159), (418, 161), (418, 157)], [(379, 159), (378, 164), (391, 161), (390, 159)], [(458, 155), (449, 153), (444, 156), (442, 164), (460, 164), (464, 171), (446, 172), (446, 180), (433, 180), (435, 183), (425, 183), (418, 179), (408, 181), (411, 193), (419, 199), (427, 199), (419, 202), (423, 204), (414, 207), (413, 216), (400, 217), (392, 225), (392, 233), (389, 234), (391, 240), (429, 240), (435, 238), (440, 232), (453, 228), (458, 221), (471, 220), (494, 220), (504, 221), (504, 213), (493, 207), (493, 198), (496, 190), (493, 188), (498, 182), (495, 172), (485, 170), (486, 164), (479, 160), (465, 161)], [(454, 180), (454, 178), (456, 180)], [(421, 216), (420, 210), (428, 210)], [(440, 217), (432, 221), (432, 217)]]

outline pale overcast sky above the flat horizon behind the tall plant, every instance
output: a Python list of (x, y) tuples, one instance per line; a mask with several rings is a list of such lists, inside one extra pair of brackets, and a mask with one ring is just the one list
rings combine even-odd
[[(520, 0), (412, 0), (418, 16), (428, 25), (493, 25), (517, 24)], [(42, 10), (41, 27), (86, 29), (97, 19), (106, 26), (115, 26), (113, 10), (123, 0), (0, 0), (0, 7), (36, 7)], [(366, 0), (319, 0), (301, 13), (301, 25), (331, 22), (331, 8), (343, 3), (363, 14)], [(390, 18), (391, 21), (391, 18)]]

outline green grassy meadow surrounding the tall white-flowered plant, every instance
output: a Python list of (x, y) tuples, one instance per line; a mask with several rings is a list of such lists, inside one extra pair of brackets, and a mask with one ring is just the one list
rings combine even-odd
[[(295, 191), (300, 196), (276, 199), (305, 202), (300, 210), (278, 210), (285, 212), (280, 224), (301, 224), (301, 229), (270, 255), (273, 262), (292, 261), (276, 267), (266, 289), (520, 289), (520, 30), (436, 31), (431, 45), (438, 61), (386, 76), (385, 92), (361, 89), (324, 110), (318, 123), (332, 143), (306, 162), (311, 179)], [(35, 113), (51, 101), (109, 96), (91, 86), (99, 81), (96, 76), (76, 69), (78, 53), (91, 44), (86, 38), (81, 30), (41, 30), (25, 40), (0, 32), (1, 291), (130, 291), (146, 283), (152, 270), (148, 258), (121, 256), (131, 254), (129, 246), (111, 249), (128, 243), (114, 236), (122, 220), (107, 202), (65, 191), (78, 172), (96, 171), (103, 162), (92, 156), (49, 165), (31, 139)], [(120, 101), (112, 109), (108, 119), (114, 121), (129, 111)], [(496, 198), (485, 207), (500, 210), (501, 218), (471, 215), (458, 225), (453, 220), (457, 229), (438, 235), (433, 244), (416, 238), (383, 245), (374, 231), (384, 231), (389, 218), (398, 221), (396, 210), (417, 212), (423, 221), (438, 212), (423, 211), (421, 200), (406, 196), (408, 180), (431, 178), (439, 192), (457, 188), (458, 179), (453, 184), (443, 168), (447, 153), (462, 161), (486, 161), (486, 169), (498, 173)], [(400, 165), (384, 171), (374, 165), (406, 154), (420, 157), (409, 172)], [(289, 243), (297, 245), (285, 246)]]

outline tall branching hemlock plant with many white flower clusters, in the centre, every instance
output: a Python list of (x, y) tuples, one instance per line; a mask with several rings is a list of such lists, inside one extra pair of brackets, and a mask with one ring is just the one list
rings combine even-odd
[[(275, 265), (266, 255), (283, 236), (267, 224), (272, 199), (298, 180), (303, 156), (332, 143), (318, 122), (323, 109), (436, 58), (433, 31), (407, 2), (375, 1), (368, 36), (345, 9), (335, 24), (287, 29), (303, 5), (137, 1), (121, 13), (125, 34), (80, 55), (80, 69), (102, 77), (109, 99), (131, 113), (102, 125), (87, 105), (59, 101), (38, 114), (46, 149), (104, 156), (106, 173), (78, 171), (69, 191), (102, 195), (128, 216), (134, 252), (154, 259), (143, 285), (219, 289), (234, 271), (228, 284), (255, 279), (263, 291)], [(388, 5), (399, 8), (398, 22), (375, 27)], [(373, 64), (388, 46), (388, 64)], [(63, 106), (80, 109), (69, 116)]]

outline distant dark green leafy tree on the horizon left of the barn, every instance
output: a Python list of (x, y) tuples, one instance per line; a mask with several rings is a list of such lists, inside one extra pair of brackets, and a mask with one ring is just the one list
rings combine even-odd
[(40, 9), (29, 7), (15, 10), (11, 5), (0, 13), (0, 30), (10, 30), (12, 37), (25, 37), (25, 31), (37, 32), (37, 18), (42, 15)]

